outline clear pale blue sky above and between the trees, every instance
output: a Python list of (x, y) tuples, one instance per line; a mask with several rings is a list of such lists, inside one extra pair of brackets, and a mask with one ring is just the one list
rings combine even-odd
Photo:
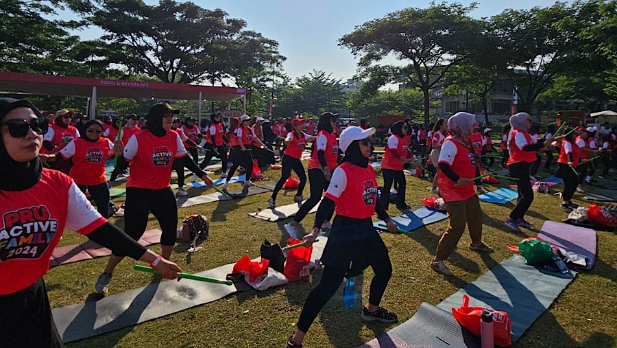
[[(180, 1), (180, 0), (177, 0)], [(446, 1), (451, 3), (452, 1)], [(469, 5), (472, 1), (459, 1)], [(523, 9), (553, 5), (550, 0), (476, 1), (475, 18), (499, 14), (507, 8)], [(158, 1), (145, 0), (156, 5)], [(357, 59), (349, 49), (339, 47), (341, 36), (372, 19), (403, 8), (427, 8), (430, 0), (193, 0), (202, 8), (221, 8), (230, 17), (247, 22), (247, 30), (261, 32), (279, 43), (280, 54), (287, 57), (283, 68), (291, 78), (315, 70), (332, 73), (346, 81), (356, 73)], [(97, 27), (77, 32), (84, 40), (103, 34)]]

